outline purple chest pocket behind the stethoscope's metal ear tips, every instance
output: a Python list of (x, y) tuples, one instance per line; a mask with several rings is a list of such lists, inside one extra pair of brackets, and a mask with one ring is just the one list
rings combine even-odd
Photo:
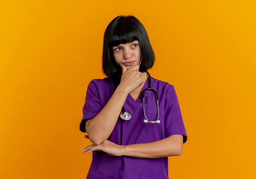
[[(147, 106), (146, 112), (148, 120), (156, 121), (157, 120), (157, 107)], [(159, 115), (160, 123), (145, 123), (146, 130), (149, 133), (161, 134), (164, 133), (164, 118)]]

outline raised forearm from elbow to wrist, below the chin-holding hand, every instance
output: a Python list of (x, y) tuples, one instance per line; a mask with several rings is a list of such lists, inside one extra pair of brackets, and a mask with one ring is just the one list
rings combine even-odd
[(86, 131), (92, 143), (99, 145), (110, 136), (127, 95), (127, 90), (119, 85), (99, 114), (86, 122)]

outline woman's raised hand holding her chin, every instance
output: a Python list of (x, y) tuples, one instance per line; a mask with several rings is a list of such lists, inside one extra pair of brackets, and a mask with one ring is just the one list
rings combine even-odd
[(138, 88), (141, 83), (141, 75), (142, 73), (139, 72), (139, 65), (134, 65), (129, 70), (126, 69), (126, 66), (120, 64), (122, 68), (122, 76), (120, 84), (124, 87), (128, 93), (132, 92), (133, 89)]

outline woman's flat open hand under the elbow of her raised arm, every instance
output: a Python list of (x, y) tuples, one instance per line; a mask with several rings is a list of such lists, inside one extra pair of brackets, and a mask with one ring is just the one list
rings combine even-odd
[[(85, 135), (85, 138), (89, 139), (88, 135)], [(88, 151), (88, 153), (91, 153), (92, 151), (101, 151), (107, 153), (108, 155), (119, 157), (122, 156), (123, 149), (124, 146), (117, 145), (109, 140), (105, 140), (99, 145), (92, 144), (83, 148), (82, 150), (83, 152)]]

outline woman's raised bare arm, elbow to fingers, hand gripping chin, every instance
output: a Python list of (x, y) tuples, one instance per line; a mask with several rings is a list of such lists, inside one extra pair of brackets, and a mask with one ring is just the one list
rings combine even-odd
[(123, 72), (119, 86), (99, 114), (85, 123), (90, 141), (95, 145), (99, 145), (108, 139), (117, 123), (127, 95), (142, 83), (142, 73), (139, 72), (139, 65), (132, 66), (128, 70), (124, 65), (120, 66)]

